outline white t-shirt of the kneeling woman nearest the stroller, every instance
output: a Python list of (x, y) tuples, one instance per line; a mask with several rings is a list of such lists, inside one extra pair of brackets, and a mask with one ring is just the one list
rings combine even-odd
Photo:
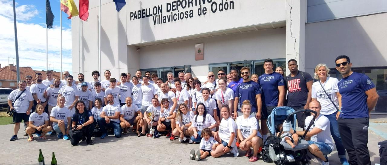
[(241, 133), (243, 135), (243, 138), (248, 138), (253, 133), (253, 130), (257, 130), (257, 135), (262, 138), (261, 133), (259, 133), (258, 128), (258, 122), (257, 118), (253, 116), (248, 116), (248, 118), (245, 119), (244, 116), (238, 116), (236, 118), (236, 126), (239, 130), (241, 130)]

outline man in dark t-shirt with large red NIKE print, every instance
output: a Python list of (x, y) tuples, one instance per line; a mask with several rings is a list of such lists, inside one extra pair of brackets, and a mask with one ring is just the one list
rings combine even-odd
[[(288, 98), (286, 106), (293, 108), (295, 111), (300, 109), (308, 109), (309, 103), (312, 100), (312, 85), (313, 78), (307, 72), (298, 71), (297, 61), (290, 59), (288, 61), (289, 76), (285, 80), (288, 88)], [(310, 113), (297, 113), (298, 127), (304, 129), (305, 119)]]

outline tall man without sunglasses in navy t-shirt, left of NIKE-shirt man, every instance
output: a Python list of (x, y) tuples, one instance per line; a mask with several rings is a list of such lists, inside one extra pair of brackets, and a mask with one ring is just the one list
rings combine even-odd
[(284, 77), (273, 71), (273, 60), (265, 59), (264, 61), (265, 73), (259, 76), (258, 81), (262, 90), (262, 118), (261, 128), (262, 136), (265, 141), (267, 137), (267, 117), (271, 114), (277, 106), (283, 106), (285, 87)]

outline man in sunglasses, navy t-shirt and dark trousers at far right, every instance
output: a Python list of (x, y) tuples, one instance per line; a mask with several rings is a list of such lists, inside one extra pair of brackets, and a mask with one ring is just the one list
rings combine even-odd
[(337, 84), (342, 103), (337, 123), (349, 164), (371, 165), (367, 147), (369, 116), (379, 96), (371, 79), (351, 71), (351, 66), (349, 57), (336, 58), (336, 69), (342, 75)]

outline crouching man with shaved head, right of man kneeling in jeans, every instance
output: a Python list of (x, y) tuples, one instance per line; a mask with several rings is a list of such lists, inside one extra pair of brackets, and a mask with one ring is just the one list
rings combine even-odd
[[(144, 115), (142, 115), (140, 109), (137, 106), (132, 106), (132, 98), (127, 97), (125, 98), (125, 105), (121, 107), (121, 113), (120, 113), (120, 125), (121, 128), (123, 128), (123, 134), (128, 133), (128, 128), (137, 121), (140, 120), (140, 126), (144, 125)], [(140, 116), (138, 116), (139, 114)]]

